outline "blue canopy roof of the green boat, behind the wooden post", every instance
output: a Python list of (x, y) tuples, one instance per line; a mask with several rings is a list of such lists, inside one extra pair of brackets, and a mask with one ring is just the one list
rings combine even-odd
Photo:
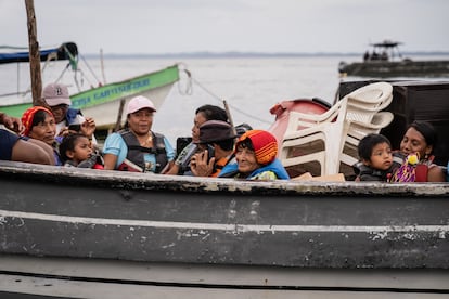
[[(0, 64), (29, 62), (29, 52), (27, 48), (0, 47)], [(64, 42), (57, 48), (41, 49), (40, 61), (48, 60), (69, 60), (77, 61), (78, 47), (75, 42)]]

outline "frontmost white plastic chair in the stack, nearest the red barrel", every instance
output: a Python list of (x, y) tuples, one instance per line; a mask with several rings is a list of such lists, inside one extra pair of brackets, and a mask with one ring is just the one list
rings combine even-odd
[[(320, 115), (290, 113), (280, 153), (284, 167), (318, 161), (320, 176), (338, 173), (342, 139), (346, 135), (347, 101), (338, 101)], [(317, 143), (322, 146), (315, 146)]]

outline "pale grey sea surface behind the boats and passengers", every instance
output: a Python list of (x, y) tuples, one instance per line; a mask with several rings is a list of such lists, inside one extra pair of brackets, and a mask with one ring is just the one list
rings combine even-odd
[[(426, 58), (426, 57), (420, 57)], [(448, 56), (432, 58), (446, 58)], [(176, 83), (154, 117), (153, 130), (165, 134), (176, 145), (178, 136), (190, 136), (194, 112), (204, 104), (228, 103), (234, 125), (246, 122), (255, 129), (268, 129), (274, 121), (270, 108), (278, 102), (320, 98), (333, 103), (342, 78), (341, 61), (360, 61), (359, 56), (306, 55), (270, 57), (105, 57), (81, 58), (77, 78), (81, 88), (101, 82), (121, 81), (130, 77), (180, 64), (185, 73)], [(42, 80), (62, 81), (76, 92), (73, 72), (63, 73), (66, 62), (46, 66)], [(17, 83), (16, 64), (1, 66), (0, 93), (29, 86), (27, 66), (21, 66)], [(13, 75), (12, 75), (13, 74)], [(346, 78), (345, 80), (347, 80)], [(354, 78), (360, 79), (360, 78)], [(72, 82), (69, 82), (72, 80)]]

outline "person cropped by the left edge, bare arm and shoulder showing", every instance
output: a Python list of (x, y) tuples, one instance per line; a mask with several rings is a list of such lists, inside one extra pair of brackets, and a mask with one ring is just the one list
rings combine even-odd
[(40, 140), (26, 140), (20, 136), (25, 129), (22, 120), (0, 113), (0, 160), (54, 165), (52, 148)]

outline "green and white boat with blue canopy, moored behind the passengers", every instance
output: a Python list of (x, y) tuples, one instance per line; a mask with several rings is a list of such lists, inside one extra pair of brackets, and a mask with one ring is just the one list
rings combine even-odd
[[(40, 51), (40, 57), (43, 63), (68, 60), (67, 67), (72, 66), (74, 76), (77, 76), (78, 48), (74, 42), (43, 49)], [(23, 62), (29, 62), (27, 51), (0, 54), (0, 64)], [(117, 119), (125, 119), (123, 107), (132, 96), (145, 95), (153, 101), (156, 108), (161, 107), (172, 84), (180, 79), (179, 72), (179, 65), (175, 64), (123, 81), (89, 86), (87, 89), (70, 94), (72, 107), (81, 109), (86, 116), (93, 117), (98, 129), (110, 129), (116, 125)], [(75, 81), (79, 80), (75, 78)], [(0, 110), (8, 115), (21, 117), (23, 112), (33, 105), (29, 90), (3, 95), (0, 95)]]

